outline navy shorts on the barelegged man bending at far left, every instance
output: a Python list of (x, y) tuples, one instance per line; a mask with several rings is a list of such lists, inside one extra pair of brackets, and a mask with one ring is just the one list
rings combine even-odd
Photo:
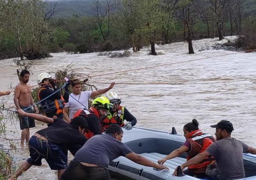
[(35, 166), (42, 165), (42, 158), (45, 158), (52, 170), (61, 170), (67, 168), (67, 155), (61, 150), (61, 147), (47, 140), (42, 140), (32, 136), (28, 142), (30, 158), (29, 164)]

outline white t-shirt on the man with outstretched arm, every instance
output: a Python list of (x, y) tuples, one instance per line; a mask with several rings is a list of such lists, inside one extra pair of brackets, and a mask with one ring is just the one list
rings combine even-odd
[[(72, 118), (79, 109), (84, 109), (85, 107), (86, 107), (86, 109), (88, 109), (88, 101), (89, 101), (89, 98), (90, 98), (91, 94), (92, 94), (92, 91), (82, 91), (80, 95), (74, 95), (73, 93), (70, 94), (68, 103), (65, 104), (65, 107), (69, 107), (69, 110), (70, 110), (69, 116), (70, 116), (70, 118)], [(75, 101), (74, 98), (77, 101)], [(78, 101), (81, 104), (78, 103)]]

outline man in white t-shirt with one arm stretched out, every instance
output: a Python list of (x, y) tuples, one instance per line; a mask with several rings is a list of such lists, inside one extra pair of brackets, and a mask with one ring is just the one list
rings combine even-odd
[[(70, 94), (69, 101), (65, 104), (63, 109), (64, 118), (69, 122), (73, 115), (75, 115), (75, 112), (77, 112), (79, 109), (88, 109), (89, 98), (94, 98), (97, 95), (108, 92), (114, 87), (114, 85), (115, 83), (112, 82), (111, 85), (105, 89), (97, 91), (82, 91), (80, 81), (72, 82), (72, 93)], [(69, 112), (69, 115), (67, 112)]]

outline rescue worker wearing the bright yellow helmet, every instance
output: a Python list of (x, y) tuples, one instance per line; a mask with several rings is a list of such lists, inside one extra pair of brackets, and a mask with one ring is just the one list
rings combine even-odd
[(113, 105), (109, 102), (108, 98), (100, 96), (92, 101), (92, 107), (89, 108), (89, 111), (80, 109), (75, 113), (72, 119), (78, 116), (86, 117), (88, 128), (86, 129), (84, 135), (87, 139), (90, 139), (96, 134), (101, 134), (102, 128), (100, 125), (100, 120), (102, 117), (106, 116), (106, 112), (112, 107)]

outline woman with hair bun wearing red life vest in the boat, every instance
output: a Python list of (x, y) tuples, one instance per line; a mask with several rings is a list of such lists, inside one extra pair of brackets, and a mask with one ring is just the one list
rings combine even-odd
[[(172, 159), (180, 156), (182, 153), (188, 153), (187, 161), (197, 154), (202, 153), (211, 145), (215, 139), (209, 134), (204, 134), (198, 128), (198, 121), (196, 119), (192, 120), (192, 123), (187, 123), (183, 128), (184, 136), (186, 141), (184, 144), (174, 150), (172, 153), (167, 155), (165, 158), (158, 161), (159, 164), (164, 163), (168, 159)], [(203, 162), (199, 162), (198, 164), (188, 166), (188, 169), (184, 171), (184, 174), (189, 176), (196, 176), (199, 178), (206, 177), (206, 168), (207, 166), (214, 160), (213, 157), (206, 157)]]

